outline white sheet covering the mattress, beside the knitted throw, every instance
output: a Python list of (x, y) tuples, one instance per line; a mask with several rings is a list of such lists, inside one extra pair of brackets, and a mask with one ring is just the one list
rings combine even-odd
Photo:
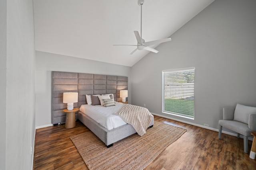
[(106, 129), (114, 129), (116, 127), (127, 124), (118, 115), (113, 115), (123, 106), (123, 103), (115, 102), (116, 106), (104, 107), (100, 105), (92, 106), (84, 104), (80, 107), (80, 111), (94, 119), (97, 123)]

